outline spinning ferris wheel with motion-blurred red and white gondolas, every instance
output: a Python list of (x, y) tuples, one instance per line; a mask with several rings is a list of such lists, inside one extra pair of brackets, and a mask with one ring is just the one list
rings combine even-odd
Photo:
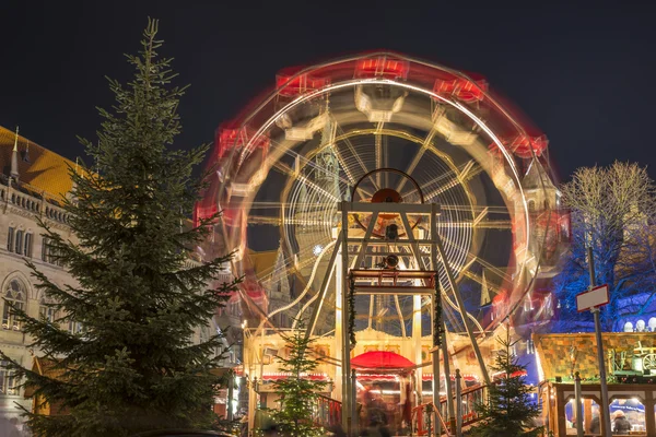
[[(454, 332), (467, 319), (483, 336), (554, 267), (562, 220), (548, 141), (480, 75), (364, 54), (281, 71), (274, 91), (245, 114), (218, 130), (215, 176), (196, 216), (223, 211), (213, 247), (236, 250), (233, 273), (246, 276), (239, 297), (260, 327), (293, 328), (312, 315), (315, 333), (330, 332), (344, 201), (437, 205), (445, 258), (437, 283)], [(395, 228), (399, 238), (421, 238), (429, 222), (351, 213), (347, 226), (385, 240)], [(256, 265), (253, 253), (274, 262)], [(355, 268), (376, 269), (389, 253), (398, 255), (395, 268), (425, 267), (390, 243), (370, 248)], [(485, 297), (499, 304), (492, 318), (479, 310)], [(358, 299), (356, 329), (408, 334), (411, 298)], [(422, 311), (430, 319), (430, 308)]]

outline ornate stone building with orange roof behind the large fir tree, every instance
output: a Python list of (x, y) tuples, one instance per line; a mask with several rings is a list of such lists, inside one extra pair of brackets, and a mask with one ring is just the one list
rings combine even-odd
[[(35, 277), (26, 264), (32, 262), (57, 285), (75, 286), (75, 280), (58, 262), (47, 245), (47, 237), (38, 221), (43, 221), (65, 239), (75, 241), (67, 213), (61, 208), (62, 197), (70, 196), (72, 181), (69, 176), (75, 163), (17, 134), (0, 127), (0, 350), (25, 367), (32, 367), (39, 351), (30, 347), (31, 339), (13, 316), (4, 299), (20, 306), (32, 317), (46, 317), (55, 320), (60, 317), (52, 308), (44, 306), (47, 302), (44, 292), (37, 290)], [(199, 257), (190, 253), (186, 267), (197, 265)], [(232, 276), (231, 276), (232, 277)], [(225, 279), (229, 281), (230, 279)], [(80, 323), (68, 323), (71, 332), (79, 332)], [(196, 330), (192, 342), (207, 341), (221, 332), (218, 318), (209, 326)], [(222, 365), (232, 367), (234, 355), (230, 353), (227, 341), (223, 351)], [(226, 352), (227, 351), (227, 352)], [(5, 363), (0, 363), (0, 420), (2, 417), (22, 421), (21, 405), (32, 409), (32, 399), (25, 399), (24, 390)], [(216, 399), (225, 403), (225, 399)]]

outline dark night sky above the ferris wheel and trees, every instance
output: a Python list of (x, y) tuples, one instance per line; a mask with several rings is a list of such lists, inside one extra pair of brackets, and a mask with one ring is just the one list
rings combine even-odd
[(5, 0), (0, 125), (82, 155), (75, 135), (93, 139), (95, 106), (112, 104), (104, 76), (129, 78), (122, 54), (138, 49), (151, 15), (179, 83), (191, 84), (181, 147), (212, 141), (283, 67), (388, 48), (485, 75), (548, 134), (564, 179), (616, 158), (648, 165), (656, 177), (649, 3)]

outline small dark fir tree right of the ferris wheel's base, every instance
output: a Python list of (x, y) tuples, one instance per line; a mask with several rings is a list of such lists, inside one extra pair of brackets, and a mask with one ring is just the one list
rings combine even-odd
[(500, 339), (499, 352), (491, 369), (501, 376), (488, 388), (488, 403), (477, 403), (475, 410), (482, 418), (480, 425), (469, 430), (477, 437), (534, 437), (542, 436), (543, 427), (536, 427), (534, 421), (540, 415), (540, 408), (530, 397), (531, 388), (526, 385), (526, 366), (518, 363), (512, 353), (516, 342), (511, 341), (509, 332)]

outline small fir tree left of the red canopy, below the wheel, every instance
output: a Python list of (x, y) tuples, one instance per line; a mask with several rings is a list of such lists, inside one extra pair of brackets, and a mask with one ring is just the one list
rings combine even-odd
[(305, 339), (302, 327), (292, 335), (284, 336), (289, 356), (278, 357), (280, 371), (290, 377), (274, 382), (276, 392), (280, 398), (280, 409), (268, 411), (271, 420), (278, 425), (283, 436), (319, 437), (324, 428), (312, 421), (316, 395), (326, 388), (326, 382), (309, 379), (319, 361), (311, 356), (314, 339)]

